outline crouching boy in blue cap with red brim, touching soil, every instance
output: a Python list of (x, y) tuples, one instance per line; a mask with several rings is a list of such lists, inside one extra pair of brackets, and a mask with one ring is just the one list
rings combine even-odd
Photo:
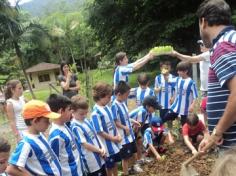
[(148, 154), (153, 154), (157, 160), (161, 160), (159, 153), (164, 153), (166, 149), (161, 147), (166, 137), (170, 141), (170, 131), (164, 127), (160, 117), (154, 116), (151, 120), (151, 127), (144, 132), (143, 145)]

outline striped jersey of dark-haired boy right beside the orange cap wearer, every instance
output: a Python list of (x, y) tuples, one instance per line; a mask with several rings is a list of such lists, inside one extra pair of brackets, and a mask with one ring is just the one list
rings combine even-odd
[(72, 132), (66, 125), (60, 126), (52, 123), (48, 141), (60, 161), (62, 175), (83, 175), (78, 146)]

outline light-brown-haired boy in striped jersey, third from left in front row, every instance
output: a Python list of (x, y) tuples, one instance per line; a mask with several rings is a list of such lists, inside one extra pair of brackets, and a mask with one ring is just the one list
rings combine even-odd
[(76, 136), (81, 151), (84, 156), (84, 165), (88, 171), (88, 176), (106, 176), (104, 158), (106, 151), (101, 141), (95, 133), (94, 127), (89, 119), (88, 103), (82, 96), (74, 96), (72, 101), (73, 120), (71, 129)]

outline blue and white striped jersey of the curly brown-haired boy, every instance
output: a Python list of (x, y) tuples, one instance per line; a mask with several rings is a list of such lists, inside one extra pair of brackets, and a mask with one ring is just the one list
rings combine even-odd
[(99, 139), (102, 141), (108, 157), (120, 151), (120, 144), (104, 139), (99, 135), (100, 132), (105, 132), (109, 135), (116, 136), (117, 129), (115, 126), (113, 114), (109, 106), (99, 106), (97, 104), (93, 107), (91, 119)]

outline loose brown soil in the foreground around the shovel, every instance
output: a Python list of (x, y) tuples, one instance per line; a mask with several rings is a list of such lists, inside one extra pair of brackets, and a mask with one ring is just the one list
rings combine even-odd
[[(192, 156), (186, 152), (181, 142), (177, 142), (168, 147), (163, 161), (153, 161), (143, 166), (144, 172), (139, 176), (179, 176), (181, 164)], [(196, 159), (191, 165), (196, 169), (200, 176), (208, 176), (215, 162), (215, 154), (210, 153)]]

